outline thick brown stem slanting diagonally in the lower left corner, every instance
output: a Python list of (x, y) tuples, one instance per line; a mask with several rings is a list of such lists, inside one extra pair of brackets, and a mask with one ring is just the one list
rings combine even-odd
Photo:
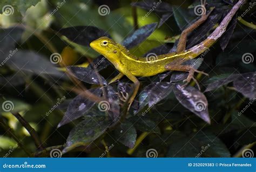
[(27, 121), (22, 117), (22, 115), (19, 114), (19, 113), (12, 113), (12, 115), (14, 115), (15, 118), (17, 118), (17, 120), (18, 120), (19, 122), (21, 122), (22, 126), (26, 128), (26, 130), (29, 132), (29, 134), (31, 135), (31, 137), (32, 137), (33, 140), (35, 141), (36, 147), (37, 147), (38, 149), (43, 149), (44, 147), (43, 147), (43, 145), (42, 145), (42, 143), (41, 143), (41, 141), (40, 141), (40, 139), (39, 139), (39, 137), (38, 137), (38, 135), (37, 135), (35, 129), (33, 129), (33, 128), (30, 126), (29, 122), (27, 122)]

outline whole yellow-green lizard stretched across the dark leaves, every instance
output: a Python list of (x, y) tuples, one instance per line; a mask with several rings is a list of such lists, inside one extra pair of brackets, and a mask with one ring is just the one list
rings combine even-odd
[[(194, 45), (190, 49), (186, 50), (186, 39), (187, 35), (196, 29), (199, 25), (205, 22), (208, 18), (210, 12), (206, 15), (206, 10), (203, 10), (201, 17), (192, 25), (188, 26), (183, 32), (181, 32), (177, 50), (173, 53), (161, 54), (154, 57), (153, 59), (145, 57), (137, 57), (129, 52), (121, 44), (114, 42), (113, 39), (108, 37), (100, 37), (96, 40), (93, 40), (90, 43), (92, 49), (102, 54), (106, 59), (108, 59), (114, 67), (120, 72), (116, 77), (114, 77), (109, 84), (112, 82), (121, 79), (124, 75), (129, 78), (134, 83), (134, 90), (129, 100), (130, 109), (133, 100), (136, 98), (136, 95), (139, 90), (139, 80), (136, 77), (150, 77), (165, 71), (184, 71), (188, 72), (188, 77), (184, 80), (188, 84), (191, 79), (194, 79), (194, 72), (206, 74), (202, 71), (198, 71), (190, 65), (183, 65), (187, 60), (198, 57), (201, 53), (208, 50), (217, 40), (224, 34), (227, 29), (228, 24), (231, 19), (238, 11), (240, 6), (245, 3), (245, 0), (239, 0), (233, 8), (227, 13), (224, 19), (216, 27), (216, 29), (205, 39), (203, 42)], [(205, 8), (206, 0), (203, 2), (201, 0), (202, 8)], [(207, 75), (207, 74), (206, 74)], [(198, 84), (198, 82), (196, 81)], [(186, 85), (185, 84), (185, 85)]]

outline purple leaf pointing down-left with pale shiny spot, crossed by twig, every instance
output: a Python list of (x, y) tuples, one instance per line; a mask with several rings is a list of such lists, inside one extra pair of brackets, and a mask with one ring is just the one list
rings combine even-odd
[[(97, 96), (100, 96), (102, 94), (100, 88), (92, 88), (88, 91)], [(85, 98), (83, 93), (77, 95), (77, 97), (75, 97), (70, 102), (62, 121), (60, 121), (58, 124), (58, 128), (85, 115), (87, 112), (90, 111), (93, 105), (95, 105), (95, 102), (91, 101), (88, 98)]]

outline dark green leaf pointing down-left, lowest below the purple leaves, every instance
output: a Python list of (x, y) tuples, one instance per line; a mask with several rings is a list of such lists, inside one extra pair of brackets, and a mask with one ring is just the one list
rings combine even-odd
[(95, 141), (105, 133), (108, 126), (109, 122), (105, 116), (86, 117), (85, 120), (78, 123), (69, 133), (63, 153), (77, 146), (89, 145), (88, 143)]

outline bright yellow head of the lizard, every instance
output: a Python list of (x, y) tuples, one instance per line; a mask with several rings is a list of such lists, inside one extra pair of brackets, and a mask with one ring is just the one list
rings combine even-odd
[(100, 37), (90, 43), (93, 50), (105, 56), (110, 61), (118, 61), (120, 48), (114, 40), (107, 37)]

